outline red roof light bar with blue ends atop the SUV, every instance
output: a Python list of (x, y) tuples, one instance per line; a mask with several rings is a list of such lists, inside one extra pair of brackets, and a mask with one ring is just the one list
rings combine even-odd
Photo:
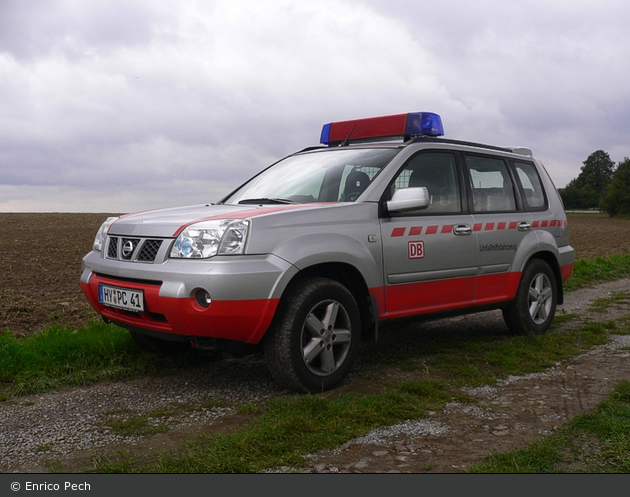
[(432, 112), (412, 112), (324, 124), (319, 141), (324, 145), (345, 145), (353, 142), (443, 134), (444, 127), (439, 115)]

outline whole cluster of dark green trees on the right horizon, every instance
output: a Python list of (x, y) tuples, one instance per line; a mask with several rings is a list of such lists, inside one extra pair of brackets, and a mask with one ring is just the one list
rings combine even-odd
[(609, 216), (630, 216), (630, 159), (615, 164), (603, 150), (582, 163), (580, 174), (560, 188), (567, 210), (601, 209)]

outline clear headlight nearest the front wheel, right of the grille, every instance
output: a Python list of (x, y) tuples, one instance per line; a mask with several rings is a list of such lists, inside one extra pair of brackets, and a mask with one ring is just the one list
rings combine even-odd
[(217, 254), (242, 254), (248, 232), (247, 219), (216, 219), (191, 224), (175, 240), (171, 257), (207, 259)]

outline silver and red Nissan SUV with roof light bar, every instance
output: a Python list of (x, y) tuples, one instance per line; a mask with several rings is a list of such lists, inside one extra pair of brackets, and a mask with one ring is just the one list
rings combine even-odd
[(147, 348), (262, 344), (307, 392), (391, 319), (499, 308), (544, 333), (574, 262), (549, 175), (529, 149), (441, 135), (426, 112), (330, 123), (216, 204), (109, 218), (82, 290)]

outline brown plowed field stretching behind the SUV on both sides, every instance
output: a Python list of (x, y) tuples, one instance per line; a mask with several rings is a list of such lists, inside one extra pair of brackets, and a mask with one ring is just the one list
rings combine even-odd
[[(0, 330), (81, 326), (96, 314), (79, 286), (81, 259), (109, 214), (0, 213)], [(569, 214), (576, 257), (630, 253), (630, 221)]]

